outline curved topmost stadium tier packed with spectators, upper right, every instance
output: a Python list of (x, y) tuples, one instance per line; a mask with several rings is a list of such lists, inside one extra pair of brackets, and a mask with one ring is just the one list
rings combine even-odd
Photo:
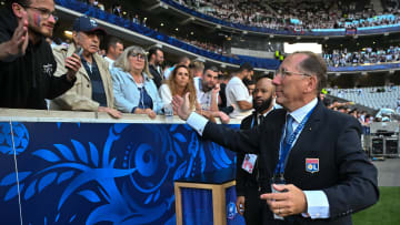
[[(260, 2), (253, 9), (250, 9), (249, 4), (251, 3), (249, 2), (244, 4), (234, 3), (234, 1), (223, 3), (223, 1), (192, 0), (190, 2), (193, 2), (194, 6), (189, 8), (182, 0), (160, 1), (206, 23), (246, 32), (321, 38), (400, 32), (398, 12), (376, 14), (372, 10), (364, 10), (344, 14), (341, 10), (334, 11), (334, 13), (329, 11), (334, 10), (334, 7), (331, 7), (328, 11), (317, 11), (316, 14), (296, 8), (279, 13), (279, 10), (274, 10), (266, 3), (261, 6)], [(244, 9), (240, 9), (240, 6), (244, 7)], [(290, 14), (290, 12), (293, 14)]]

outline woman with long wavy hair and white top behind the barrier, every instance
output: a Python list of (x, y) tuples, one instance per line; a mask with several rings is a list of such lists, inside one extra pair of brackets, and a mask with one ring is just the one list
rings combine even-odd
[[(193, 75), (190, 74), (189, 69), (183, 64), (178, 64), (171, 73), (167, 83), (162, 84), (159, 90), (163, 105), (171, 104), (174, 95), (183, 96), (186, 93), (190, 93), (190, 109), (193, 111), (200, 109), (197, 102)], [(177, 114), (176, 111), (173, 113)]]

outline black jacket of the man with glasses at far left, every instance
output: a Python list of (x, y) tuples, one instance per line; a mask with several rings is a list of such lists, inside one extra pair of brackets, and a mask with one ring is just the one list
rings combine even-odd
[[(9, 41), (18, 20), (9, 9), (0, 12), (0, 43)], [(12, 62), (0, 61), (0, 108), (47, 109), (44, 99), (54, 99), (72, 88), (66, 75), (53, 76), (57, 69), (51, 48), (42, 38), (29, 42), (26, 54)]]

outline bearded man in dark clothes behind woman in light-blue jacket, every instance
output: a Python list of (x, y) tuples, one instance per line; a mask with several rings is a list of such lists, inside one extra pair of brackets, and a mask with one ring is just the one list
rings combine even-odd
[(162, 50), (158, 47), (151, 48), (149, 50), (148, 59), (150, 73), (153, 76), (157, 89), (159, 89), (163, 81), (162, 63), (164, 59)]

